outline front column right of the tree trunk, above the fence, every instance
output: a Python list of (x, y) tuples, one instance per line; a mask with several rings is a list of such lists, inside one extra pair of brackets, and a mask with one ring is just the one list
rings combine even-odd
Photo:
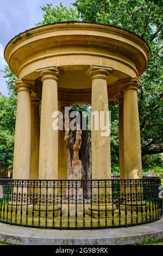
[[(91, 66), (87, 71), (92, 80), (92, 113), (96, 112), (100, 117), (100, 112), (104, 112), (106, 124), (106, 112), (108, 108), (107, 79), (112, 68), (106, 66)], [(110, 160), (110, 135), (103, 136), (100, 121), (99, 129), (95, 129), (95, 118), (92, 117), (92, 179), (111, 178)]]

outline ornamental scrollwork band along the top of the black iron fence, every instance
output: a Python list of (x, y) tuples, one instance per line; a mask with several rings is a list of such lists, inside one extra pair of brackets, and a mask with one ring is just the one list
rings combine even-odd
[(120, 187), (139, 187), (139, 186), (159, 186), (161, 179), (151, 177), (150, 179), (71, 179), (71, 180), (24, 180), (24, 179), (0, 179), (0, 185), (11, 187), (39, 187), (39, 188), (57, 188), (57, 187), (108, 187), (111, 188), (117, 184)]

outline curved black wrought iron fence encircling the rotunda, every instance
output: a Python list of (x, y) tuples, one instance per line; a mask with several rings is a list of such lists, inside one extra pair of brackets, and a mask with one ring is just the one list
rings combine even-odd
[(27, 227), (92, 229), (158, 220), (161, 180), (0, 180), (0, 221)]

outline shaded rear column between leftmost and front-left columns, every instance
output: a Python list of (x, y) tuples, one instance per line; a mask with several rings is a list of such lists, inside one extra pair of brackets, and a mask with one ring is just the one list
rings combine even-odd
[(31, 155), (30, 179), (39, 179), (39, 144), (40, 144), (40, 97), (35, 93), (31, 95)]

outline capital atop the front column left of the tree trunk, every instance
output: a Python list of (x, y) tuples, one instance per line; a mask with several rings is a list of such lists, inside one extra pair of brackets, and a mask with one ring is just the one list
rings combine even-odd
[(57, 66), (48, 66), (46, 68), (35, 69), (35, 71), (40, 72), (42, 82), (46, 79), (53, 79), (58, 81), (58, 77), (64, 74), (64, 72)]

